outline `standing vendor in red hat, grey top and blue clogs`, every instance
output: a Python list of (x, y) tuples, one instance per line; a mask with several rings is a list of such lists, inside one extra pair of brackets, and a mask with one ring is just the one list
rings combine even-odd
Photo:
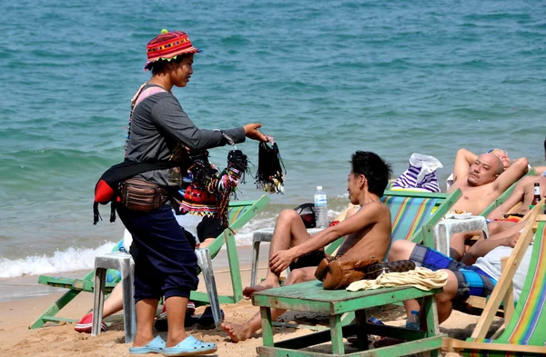
[[(246, 124), (225, 131), (199, 129), (171, 93), (173, 87), (185, 87), (193, 74), (194, 55), (201, 51), (187, 34), (163, 30), (147, 44), (145, 70), (152, 77), (135, 97), (128, 138), (126, 160), (131, 162), (171, 161), (173, 167), (137, 174), (134, 178), (151, 185), (152, 199), (131, 196), (137, 187), (126, 181), (127, 197), (116, 211), (133, 235), (130, 253), (135, 260), (136, 337), (130, 353), (163, 353), (167, 356), (207, 354), (217, 351), (215, 343), (188, 336), (184, 327), (189, 293), (197, 289), (197, 257), (167, 202), (177, 192), (182, 175), (189, 167), (186, 147), (190, 150), (222, 146), (245, 137), (266, 142), (259, 133), (261, 124)], [(147, 190), (150, 191), (150, 190)], [(124, 201), (125, 200), (125, 201)], [(150, 210), (149, 206), (153, 205)], [(157, 207), (158, 205), (158, 207)], [(132, 209), (130, 209), (131, 207)], [(142, 209), (141, 209), (142, 208)], [(168, 314), (167, 342), (154, 337), (153, 324), (157, 303), (165, 296)]]

